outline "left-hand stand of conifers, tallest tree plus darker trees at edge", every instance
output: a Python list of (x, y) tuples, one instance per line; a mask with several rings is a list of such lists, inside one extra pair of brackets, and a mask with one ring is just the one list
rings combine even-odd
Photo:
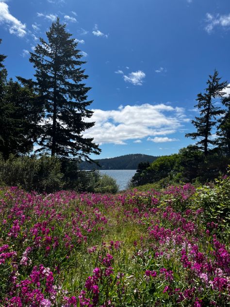
[(82, 136), (94, 125), (88, 120), (93, 112), (87, 109), (92, 101), (85, 62), (59, 18), (46, 34), (47, 41), (40, 38), (30, 52), (31, 79), (8, 80), (6, 56), (0, 54), (0, 153), (7, 159), (32, 152), (35, 144), (35, 153), (90, 161), (100, 149), (93, 138)]

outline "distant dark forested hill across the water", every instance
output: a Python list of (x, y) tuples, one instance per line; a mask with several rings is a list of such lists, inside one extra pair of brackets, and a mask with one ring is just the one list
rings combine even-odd
[(153, 162), (157, 157), (147, 154), (126, 154), (115, 158), (95, 160), (95, 163), (82, 162), (79, 165), (80, 170), (136, 170), (141, 162)]

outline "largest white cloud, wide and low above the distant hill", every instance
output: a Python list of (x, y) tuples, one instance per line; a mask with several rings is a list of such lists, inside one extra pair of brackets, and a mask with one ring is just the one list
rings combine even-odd
[(163, 103), (121, 105), (117, 110), (92, 111), (92, 118), (87, 120), (95, 121), (95, 125), (85, 131), (84, 136), (94, 137), (99, 144), (126, 144), (127, 140), (139, 142), (145, 137), (162, 138), (179, 131), (186, 121), (185, 115), (182, 117), (177, 107)]

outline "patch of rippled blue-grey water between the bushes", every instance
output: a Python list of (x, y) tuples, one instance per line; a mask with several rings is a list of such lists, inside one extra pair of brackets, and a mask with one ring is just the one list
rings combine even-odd
[(119, 190), (124, 190), (127, 188), (132, 176), (135, 174), (136, 170), (100, 170), (101, 174), (107, 174), (116, 180), (119, 185)]

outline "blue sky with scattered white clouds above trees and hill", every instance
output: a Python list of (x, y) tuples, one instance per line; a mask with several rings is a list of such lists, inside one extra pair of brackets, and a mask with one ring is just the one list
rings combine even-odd
[(208, 75), (230, 82), (229, 0), (0, 0), (9, 77), (33, 77), (28, 53), (57, 16), (87, 61), (96, 125), (85, 136), (99, 158), (194, 143), (184, 134)]

